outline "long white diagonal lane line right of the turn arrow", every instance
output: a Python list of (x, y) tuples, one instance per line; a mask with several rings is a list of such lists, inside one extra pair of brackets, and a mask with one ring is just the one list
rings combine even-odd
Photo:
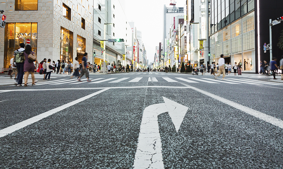
[[(187, 85), (187, 84), (183, 84), (183, 85), (188, 86), (188, 87), (191, 87), (190, 85)], [(230, 105), (231, 107), (234, 107), (234, 108), (236, 108), (236, 109), (238, 109), (238, 110), (241, 110), (241, 111), (243, 111), (243, 112), (245, 112), (245, 113), (247, 113), (247, 114), (249, 114), (249, 115), (252, 115), (252, 116), (254, 116), (254, 117), (256, 117), (256, 118), (259, 118), (259, 119), (261, 119), (261, 120), (264, 120), (264, 121), (266, 121), (266, 122), (268, 122), (268, 123), (270, 123), (270, 124), (273, 124), (273, 125), (275, 125), (275, 126), (281, 128), (281, 129), (283, 129), (283, 120), (277, 119), (277, 118), (275, 118), (275, 117), (272, 117), (272, 116), (270, 116), (270, 115), (264, 114), (264, 113), (259, 112), (259, 111), (257, 111), (257, 110), (253, 110), (253, 109), (251, 109), (251, 108), (249, 108), (249, 107), (240, 105), (240, 104), (235, 103), (235, 102), (233, 102), (233, 101), (231, 101), (231, 100), (224, 99), (224, 98), (222, 98), (222, 97), (220, 97), (220, 96), (214, 95), (214, 94), (209, 93), (209, 92), (207, 92), (207, 91), (204, 91), (204, 90), (201, 90), (201, 89), (197, 89), (197, 88), (195, 88), (195, 87), (191, 87), (191, 88), (192, 88), (193, 90), (196, 90), (196, 91), (198, 91), (198, 92), (204, 94), (204, 95), (207, 95), (207, 96), (209, 96), (209, 97), (212, 97), (213, 99), (218, 100), (218, 101), (220, 101), (220, 102), (222, 102), (222, 103), (224, 103), (224, 104), (226, 104), (226, 105)]]

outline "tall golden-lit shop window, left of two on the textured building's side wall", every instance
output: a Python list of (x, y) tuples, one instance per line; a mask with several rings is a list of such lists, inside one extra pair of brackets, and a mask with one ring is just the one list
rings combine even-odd
[(60, 59), (73, 61), (73, 32), (61, 27)]

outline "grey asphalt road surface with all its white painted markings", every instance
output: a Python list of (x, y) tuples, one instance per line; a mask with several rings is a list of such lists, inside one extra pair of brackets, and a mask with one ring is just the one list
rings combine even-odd
[[(53, 74), (52, 74), (53, 75)], [(0, 168), (283, 168), (283, 84), (176, 73), (0, 86)]]

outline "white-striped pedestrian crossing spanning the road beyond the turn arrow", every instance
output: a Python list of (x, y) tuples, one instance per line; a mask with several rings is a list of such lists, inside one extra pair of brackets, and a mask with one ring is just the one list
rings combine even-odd
[(62, 85), (62, 84), (69, 84), (69, 85), (79, 85), (79, 84), (100, 84), (100, 83), (138, 83), (138, 82), (174, 82), (174, 83), (194, 83), (194, 84), (210, 84), (210, 85), (217, 85), (217, 84), (229, 84), (229, 85), (276, 85), (282, 86), (283, 84), (280, 83), (273, 83), (273, 82), (265, 82), (260, 80), (254, 79), (232, 79), (227, 78), (223, 79), (211, 79), (211, 78), (169, 78), (169, 77), (136, 77), (136, 78), (90, 78), (92, 81), (88, 82), (86, 79), (81, 79), (82, 82), (77, 81), (77, 79), (59, 79), (59, 80), (51, 80), (41, 83), (36, 83), (36, 85)]

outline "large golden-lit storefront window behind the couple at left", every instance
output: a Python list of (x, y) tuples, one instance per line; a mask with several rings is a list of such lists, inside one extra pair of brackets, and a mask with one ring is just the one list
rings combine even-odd
[(32, 51), (37, 53), (37, 23), (7, 23), (4, 42), (4, 68), (10, 65), (14, 51), (19, 44), (31, 45)]

